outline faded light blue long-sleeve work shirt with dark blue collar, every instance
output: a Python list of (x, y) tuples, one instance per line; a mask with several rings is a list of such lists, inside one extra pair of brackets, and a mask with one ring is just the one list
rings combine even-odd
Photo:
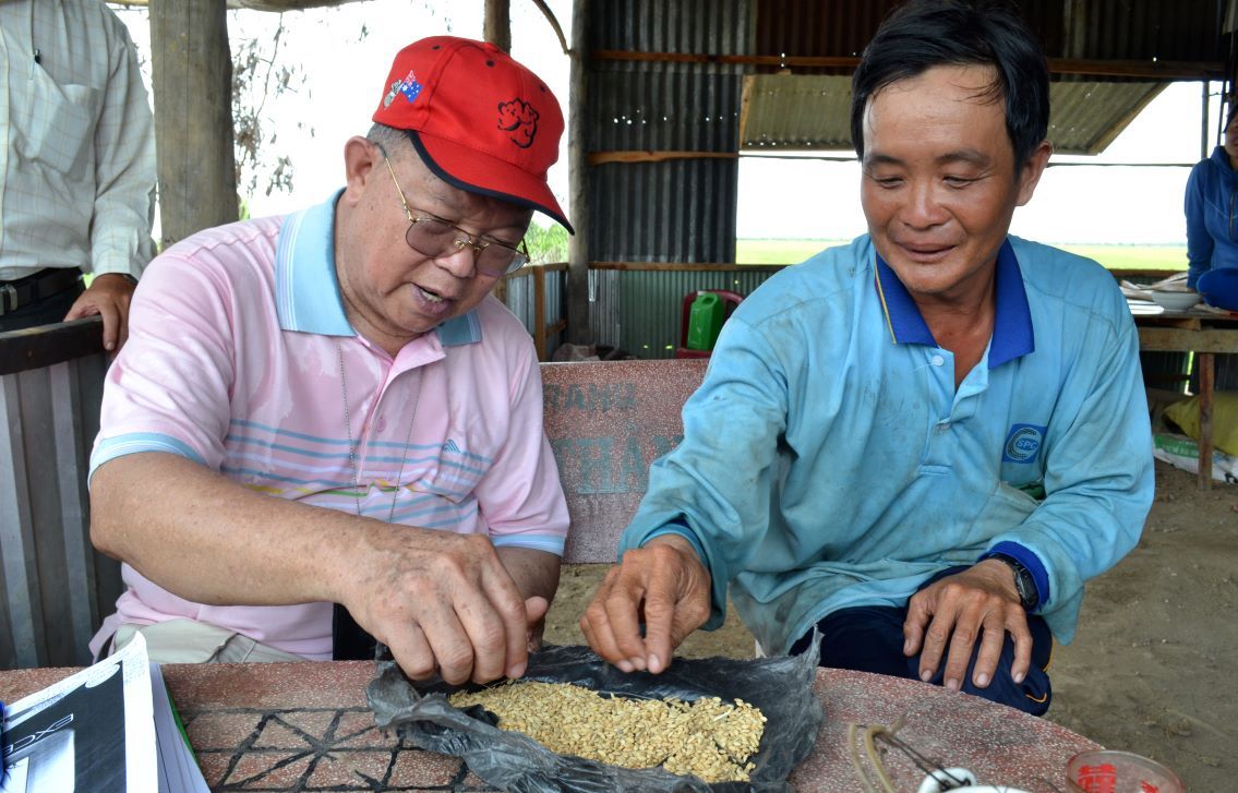
[(771, 277), (724, 325), (620, 554), (683, 533), (713, 578), (706, 627), (733, 583), (761, 646), (786, 652), (831, 611), (901, 605), (1002, 551), (1068, 642), (1083, 581), (1151, 504), (1138, 338), (1093, 261), (1010, 238), (995, 289), (993, 338), (956, 390), (868, 236)]

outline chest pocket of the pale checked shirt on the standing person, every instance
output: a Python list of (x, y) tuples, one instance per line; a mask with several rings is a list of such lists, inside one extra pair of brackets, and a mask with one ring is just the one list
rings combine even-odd
[(17, 155), (50, 172), (93, 178), (94, 131), (103, 92), (90, 85), (58, 84), (40, 67), (30, 77), (30, 101), (12, 106)]

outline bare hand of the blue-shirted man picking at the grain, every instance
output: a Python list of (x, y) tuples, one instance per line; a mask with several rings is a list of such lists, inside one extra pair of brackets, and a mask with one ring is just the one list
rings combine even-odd
[(657, 674), (680, 642), (708, 619), (709, 572), (688, 541), (664, 534), (625, 553), (607, 573), (581, 617), (581, 630), (594, 652), (624, 672)]

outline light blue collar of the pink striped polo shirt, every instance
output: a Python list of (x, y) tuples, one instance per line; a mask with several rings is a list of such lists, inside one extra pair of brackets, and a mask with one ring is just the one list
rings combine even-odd
[[(275, 308), (280, 328), (331, 336), (355, 336), (344, 314), (335, 278), (335, 202), (343, 189), (321, 204), (292, 213), (280, 226), (275, 249)], [(477, 311), (435, 328), (444, 346), (482, 340)]]

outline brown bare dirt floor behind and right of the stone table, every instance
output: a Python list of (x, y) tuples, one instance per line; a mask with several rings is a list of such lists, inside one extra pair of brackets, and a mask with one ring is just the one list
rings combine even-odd
[[(563, 570), (546, 638), (583, 642), (576, 620), (604, 567)], [(730, 615), (685, 656), (749, 657)], [(1238, 486), (1196, 487), (1156, 463), (1156, 502), (1139, 547), (1093, 580), (1078, 635), (1055, 651), (1049, 719), (1109, 748), (1153, 757), (1192, 792), (1238, 774)]]

